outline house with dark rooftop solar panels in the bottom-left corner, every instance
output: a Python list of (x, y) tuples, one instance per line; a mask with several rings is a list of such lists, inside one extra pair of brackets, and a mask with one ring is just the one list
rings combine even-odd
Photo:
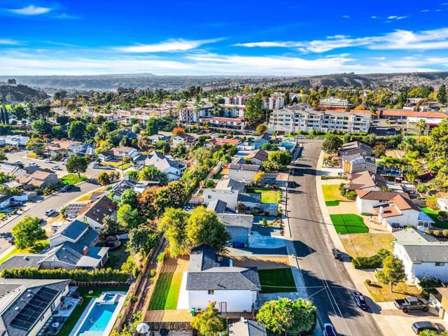
[(35, 336), (69, 293), (70, 280), (1, 279), (3, 336)]

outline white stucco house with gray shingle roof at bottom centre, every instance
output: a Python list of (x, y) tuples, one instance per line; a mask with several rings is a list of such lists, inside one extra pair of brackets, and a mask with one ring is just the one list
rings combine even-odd
[(253, 311), (259, 290), (256, 267), (234, 267), (232, 259), (201, 245), (191, 250), (177, 309), (206, 309), (210, 302), (216, 302), (221, 313)]

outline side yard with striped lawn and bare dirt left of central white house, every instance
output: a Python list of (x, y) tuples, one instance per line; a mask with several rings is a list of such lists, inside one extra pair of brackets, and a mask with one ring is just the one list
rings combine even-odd
[(188, 258), (168, 258), (163, 262), (151, 300), (149, 301), (149, 310), (177, 308), (182, 276), (187, 268)]

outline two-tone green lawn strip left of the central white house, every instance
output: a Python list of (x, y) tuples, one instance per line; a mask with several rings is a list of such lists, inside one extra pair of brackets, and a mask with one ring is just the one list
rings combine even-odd
[(177, 308), (181, 290), (182, 272), (163, 272), (160, 274), (151, 300), (149, 310), (168, 310)]

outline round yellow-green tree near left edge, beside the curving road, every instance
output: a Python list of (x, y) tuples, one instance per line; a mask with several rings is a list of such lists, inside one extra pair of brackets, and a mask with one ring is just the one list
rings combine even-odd
[(39, 239), (44, 239), (45, 231), (39, 225), (39, 218), (27, 215), (13, 226), (12, 235), (15, 246), (21, 250), (34, 246)]

